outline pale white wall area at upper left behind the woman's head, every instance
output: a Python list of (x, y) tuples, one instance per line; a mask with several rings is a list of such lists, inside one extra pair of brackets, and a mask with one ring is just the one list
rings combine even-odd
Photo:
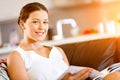
[(52, 0), (1, 0), (0, 22), (17, 18), (21, 8), (29, 2), (43, 3), (48, 9), (53, 7)]

